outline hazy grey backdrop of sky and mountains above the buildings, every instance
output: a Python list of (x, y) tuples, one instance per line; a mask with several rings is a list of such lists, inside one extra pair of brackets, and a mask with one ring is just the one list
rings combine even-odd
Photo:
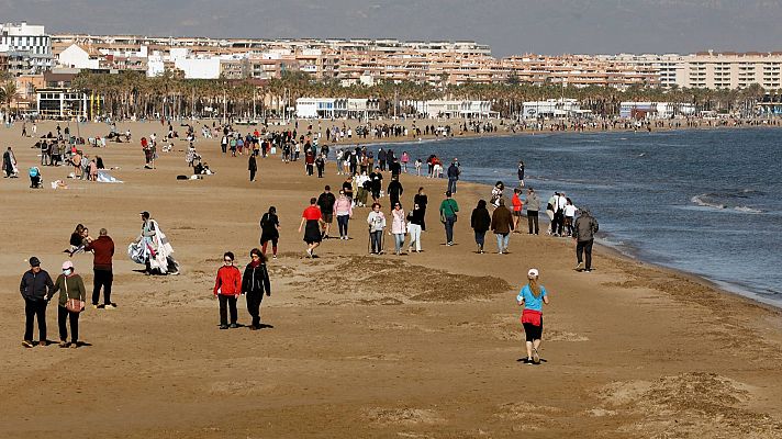
[(474, 40), (510, 54), (782, 50), (782, 0), (0, 0), (49, 33)]

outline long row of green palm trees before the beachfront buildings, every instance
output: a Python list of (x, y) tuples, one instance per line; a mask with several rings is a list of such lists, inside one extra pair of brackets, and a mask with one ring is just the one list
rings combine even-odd
[(764, 90), (753, 85), (742, 90), (661, 89), (629, 87), (563, 87), (546, 83), (427, 83), (378, 82), (344, 87), (336, 79), (314, 80), (301, 71), (286, 71), (268, 81), (253, 79), (185, 79), (181, 71), (165, 70), (157, 77), (142, 71), (118, 75), (79, 74), (71, 87), (101, 97), (101, 113), (114, 117), (235, 115), (238, 117), (284, 116), (295, 100), (310, 98), (378, 99), (388, 115), (413, 112), (416, 101), (432, 99), (491, 101), (504, 117), (513, 117), (525, 101), (571, 98), (601, 116), (616, 115), (623, 101), (692, 103), (697, 110), (733, 112), (752, 109)]

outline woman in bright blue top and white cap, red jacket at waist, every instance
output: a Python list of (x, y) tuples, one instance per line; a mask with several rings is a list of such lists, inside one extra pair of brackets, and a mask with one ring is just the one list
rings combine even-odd
[(543, 336), (543, 305), (548, 305), (548, 295), (546, 289), (538, 284), (538, 270), (530, 268), (527, 271), (528, 282), (516, 296), (518, 306), (524, 306), (521, 319), (526, 336), (527, 358), (524, 362), (527, 364), (540, 364), (538, 349)]

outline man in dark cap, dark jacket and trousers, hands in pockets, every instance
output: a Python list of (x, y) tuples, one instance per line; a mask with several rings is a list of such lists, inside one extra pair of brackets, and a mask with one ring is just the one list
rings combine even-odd
[(35, 318), (38, 319), (38, 342), (40, 346), (46, 346), (46, 301), (47, 294), (51, 294), (54, 288), (54, 282), (48, 273), (41, 268), (41, 261), (36, 257), (30, 258), (30, 270), (22, 274), (22, 282), (19, 285), (19, 291), (24, 297), (24, 340), (22, 346), (32, 348), (33, 345), (33, 324)]

